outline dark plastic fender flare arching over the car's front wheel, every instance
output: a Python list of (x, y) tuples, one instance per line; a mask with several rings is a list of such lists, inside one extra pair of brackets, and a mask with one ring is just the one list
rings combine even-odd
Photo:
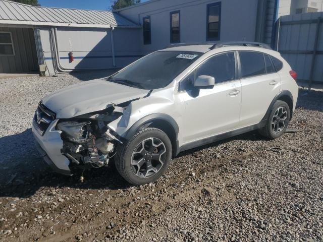
[[(174, 150), (173, 150), (173, 155), (177, 155), (179, 153), (179, 142), (178, 142), (178, 132), (179, 132), (179, 127), (178, 124), (176, 123), (175, 119), (171, 117), (168, 114), (165, 113), (152, 113), (148, 114), (142, 118), (140, 118), (136, 123), (134, 123), (131, 128), (127, 131), (125, 138), (126, 140), (130, 140), (140, 128), (144, 127), (145, 125), (149, 125), (153, 123), (154, 120), (163, 120), (167, 122), (172, 128), (175, 133), (175, 144), (174, 144)], [(173, 142), (172, 142), (173, 143)]]

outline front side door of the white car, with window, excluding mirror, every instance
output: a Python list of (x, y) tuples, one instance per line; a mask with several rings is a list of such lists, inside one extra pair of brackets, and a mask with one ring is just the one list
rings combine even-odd
[[(241, 84), (236, 79), (234, 52), (225, 52), (208, 58), (183, 82), (191, 83), (201, 75), (212, 76), (216, 85), (197, 89), (181, 85), (179, 93), (185, 103), (183, 113), (183, 143), (233, 130), (239, 124)], [(184, 84), (184, 83), (183, 83)]]

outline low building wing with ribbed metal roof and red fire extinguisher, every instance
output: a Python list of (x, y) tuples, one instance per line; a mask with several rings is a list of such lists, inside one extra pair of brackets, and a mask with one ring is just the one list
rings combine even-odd
[(109, 11), (32, 7), (2, 0), (0, 73), (57, 75), (123, 67), (141, 56), (140, 28)]

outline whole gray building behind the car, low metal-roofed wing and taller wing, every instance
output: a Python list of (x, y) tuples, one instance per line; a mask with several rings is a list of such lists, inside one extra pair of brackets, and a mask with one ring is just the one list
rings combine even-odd
[(271, 43), (278, 4), (278, 0), (150, 0), (110, 12), (1, 0), (0, 73), (39, 70), (55, 75), (121, 68), (171, 43)]

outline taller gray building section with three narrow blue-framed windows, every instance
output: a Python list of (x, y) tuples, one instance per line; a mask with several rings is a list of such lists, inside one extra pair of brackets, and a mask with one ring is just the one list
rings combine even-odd
[(137, 25), (143, 54), (177, 42), (271, 43), (275, 0), (150, 0), (118, 10)]

